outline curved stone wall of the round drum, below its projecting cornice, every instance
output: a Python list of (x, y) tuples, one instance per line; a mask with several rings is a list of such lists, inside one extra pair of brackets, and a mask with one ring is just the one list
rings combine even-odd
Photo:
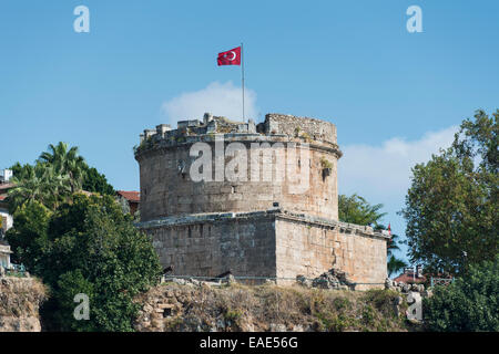
[[(238, 139), (238, 138), (237, 138)], [(263, 142), (265, 143), (265, 140)], [(247, 142), (244, 153), (247, 152), (248, 164), (247, 181), (193, 181), (190, 169), (196, 157), (190, 157), (191, 144), (149, 152), (140, 158), (141, 180), (141, 218), (142, 221), (155, 218), (189, 215), (198, 212), (227, 212), (227, 211), (256, 211), (272, 208), (274, 202), (288, 210), (308, 212), (330, 219), (338, 217), (337, 194), (337, 157), (333, 152), (314, 146), (304, 147), (308, 150), (308, 159), (301, 155), (296, 148), (294, 159), (285, 158), (286, 145), (271, 148), (276, 142), (268, 145)], [(279, 143), (279, 142), (277, 142)], [(258, 147), (251, 149), (252, 144)], [(213, 155), (215, 146), (212, 148)], [(261, 154), (258, 163), (259, 180), (253, 181), (252, 170), (256, 168), (252, 163), (252, 154)], [(267, 157), (268, 156), (268, 157)], [(225, 166), (232, 157), (226, 158)], [(330, 163), (330, 174), (323, 175), (323, 162)], [(289, 166), (284, 165), (287, 162)], [(183, 166), (183, 171), (179, 167)], [(281, 170), (308, 171), (306, 180), (298, 177), (296, 181), (285, 176), (276, 178)], [(215, 162), (212, 162), (213, 176)], [(272, 179), (264, 180), (264, 170), (269, 170)], [(305, 181), (303, 181), (303, 180)], [(295, 190), (296, 187), (308, 186), (307, 189)]]

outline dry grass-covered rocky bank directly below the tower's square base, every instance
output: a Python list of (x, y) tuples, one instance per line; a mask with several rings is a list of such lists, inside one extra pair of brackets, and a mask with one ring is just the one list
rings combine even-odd
[[(242, 284), (166, 283), (138, 299), (138, 331), (407, 331), (399, 294)], [(405, 303), (405, 302), (404, 302)], [(165, 310), (165, 312), (163, 311)], [(404, 304), (401, 311), (405, 311)]]

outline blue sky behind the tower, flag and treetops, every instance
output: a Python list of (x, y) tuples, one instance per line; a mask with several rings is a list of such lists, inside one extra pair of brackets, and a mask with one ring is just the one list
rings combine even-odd
[[(73, 30), (80, 4), (90, 33)], [(422, 33), (406, 30), (413, 4)], [(240, 67), (215, 58), (244, 42), (254, 119), (278, 112), (335, 123), (339, 191), (385, 204), (386, 223), (404, 233), (395, 212), (409, 165), (447, 145), (475, 110), (499, 107), (498, 13), (492, 0), (3, 0), (0, 168), (64, 140), (115, 188), (138, 189), (139, 134), (175, 121), (167, 107), (185, 94), (237, 91)], [(181, 103), (175, 114), (190, 114)]]

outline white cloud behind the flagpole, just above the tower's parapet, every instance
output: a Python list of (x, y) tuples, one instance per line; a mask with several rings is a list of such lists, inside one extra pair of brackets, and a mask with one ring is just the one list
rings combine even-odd
[[(244, 90), (244, 107), (246, 119), (256, 121), (256, 93), (247, 87)], [(205, 112), (242, 121), (242, 88), (234, 86), (231, 81), (226, 83), (212, 82), (205, 88), (185, 92), (164, 102), (162, 112), (169, 118), (169, 123), (173, 124), (172, 126), (175, 126), (177, 121), (201, 119)]]

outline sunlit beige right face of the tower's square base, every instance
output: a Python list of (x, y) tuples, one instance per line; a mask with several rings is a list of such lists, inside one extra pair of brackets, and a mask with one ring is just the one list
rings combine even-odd
[(369, 283), (357, 285), (357, 290), (383, 288), (387, 278), (386, 238), (370, 228), (347, 229), (340, 225), (278, 219), (277, 277), (316, 278), (335, 268), (346, 272), (352, 282)]

